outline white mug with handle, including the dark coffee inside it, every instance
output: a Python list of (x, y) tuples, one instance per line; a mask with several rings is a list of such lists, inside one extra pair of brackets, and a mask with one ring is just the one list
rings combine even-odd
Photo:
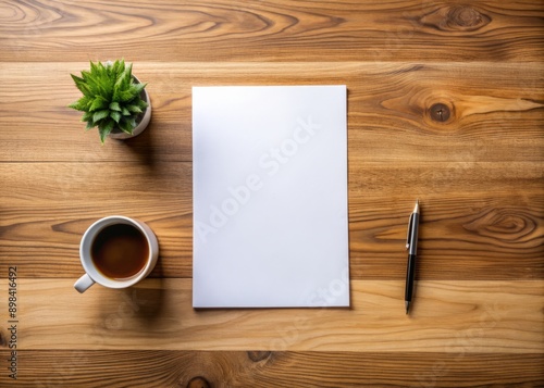
[(85, 231), (79, 256), (86, 274), (75, 283), (77, 291), (84, 292), (95, 283), (124, 288), (151, 273), (159, 243), (145, 223), (115, 215), (97, 221)]

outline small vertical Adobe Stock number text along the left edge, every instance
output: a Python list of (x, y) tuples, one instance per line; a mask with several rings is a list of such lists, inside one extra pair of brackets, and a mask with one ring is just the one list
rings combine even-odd
[(8, 268), (8, 359), (9, 377), (17, 379), (17, 267)]

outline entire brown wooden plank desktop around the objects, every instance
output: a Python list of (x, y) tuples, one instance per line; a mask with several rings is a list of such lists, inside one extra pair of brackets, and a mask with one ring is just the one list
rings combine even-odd
[[(4, 1), (0, 386), (543, 386), (543, 17), (542, 1)], [(118, 58), (152, 123), (102, 147), (66, 108), (70, 73)], [(194, 311), (191, 86), (308, 84), (348, 87), (351, 309)], [(111, 214), (153, 228), (159, 264), (78, 295), (81, 236)]]

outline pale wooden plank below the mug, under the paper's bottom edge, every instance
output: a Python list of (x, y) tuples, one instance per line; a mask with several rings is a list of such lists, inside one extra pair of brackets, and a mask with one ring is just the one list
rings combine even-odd
[[(20, 279), (20, 350), (271, 350), (543, 353), (544, 280), (420, 280), (410, 315), (404, 280), (351, 280), (351, 308), (194, 310), (190, 279), (135, 288)], [(7, 289), (5, 283), (0, 283)], [(5, 311), (5, 309), (2, 309)], [(0, 328), (5, 342), (7, 328)]]

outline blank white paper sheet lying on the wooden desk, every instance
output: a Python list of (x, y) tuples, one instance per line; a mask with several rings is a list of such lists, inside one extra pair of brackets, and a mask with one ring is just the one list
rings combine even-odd
[(349, 306), (346, 97), (193, 88), (194, 308)]

